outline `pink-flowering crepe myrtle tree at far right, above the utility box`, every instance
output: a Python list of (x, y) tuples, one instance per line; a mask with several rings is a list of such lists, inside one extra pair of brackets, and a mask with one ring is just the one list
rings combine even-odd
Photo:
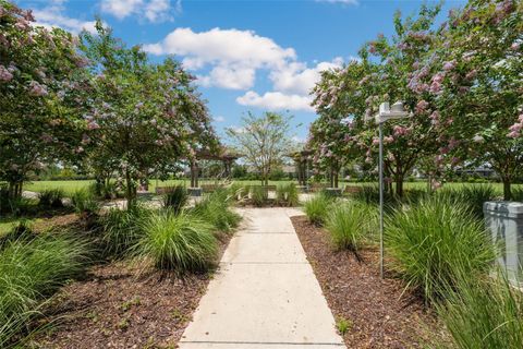
[(510, 200), (523, 170), (523, 3), (469, 1), (449, 14), (431, 57), (413, 75), (447, 125), (442, 153), (453, 164), (490, 164)]

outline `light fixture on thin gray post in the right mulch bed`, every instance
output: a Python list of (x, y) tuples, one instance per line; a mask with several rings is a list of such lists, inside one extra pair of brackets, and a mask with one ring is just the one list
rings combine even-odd
[(379, 129), (379, 275), (381, 278), (384, 278), (384, 123), (392, 119), (411, 117), (412, 113), (404, 109), (402, 101), (394, 103), (392, 107), (388, 103), (382, 103), (375, 117)]

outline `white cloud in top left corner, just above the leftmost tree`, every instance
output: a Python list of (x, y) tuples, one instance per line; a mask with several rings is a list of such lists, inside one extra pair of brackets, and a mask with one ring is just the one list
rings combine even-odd
[(49, 5), (41, 9), (34, 9), (33, 15), (35, 16), (35, 25), (40, 25), (47, 28), (61, 27), (62, 29), (70, 31), (72, 33), (78, 33), (82, 29), (94, 33), (95, 21), (81, 21), (72, 19), (63, 14), (64, 7), (61, 0), (51, 1)]

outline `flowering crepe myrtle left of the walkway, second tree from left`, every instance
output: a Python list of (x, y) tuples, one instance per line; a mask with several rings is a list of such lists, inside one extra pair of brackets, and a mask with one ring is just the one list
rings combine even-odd
[(98, 174), (122, 178), (131, 203), (138, 180), (151, 173), (163, 178), (178, 169), (179, 160), (214, 146), (216, 137), (194, 77), (179, 62), (151, 63), (139, 47), (126, 48), (100, 21), (96, 29), (96, 35), (81, 36), (95, 75), (85, 143), (90, 166)]

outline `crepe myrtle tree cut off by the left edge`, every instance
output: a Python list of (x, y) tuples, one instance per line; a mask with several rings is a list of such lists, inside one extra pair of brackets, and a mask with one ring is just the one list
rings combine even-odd
[(34, 25), (31, 10), (0, 0), (0, 180), (11, 197), (29, 172), (77, 157), (89, 88), (71, 34)]

